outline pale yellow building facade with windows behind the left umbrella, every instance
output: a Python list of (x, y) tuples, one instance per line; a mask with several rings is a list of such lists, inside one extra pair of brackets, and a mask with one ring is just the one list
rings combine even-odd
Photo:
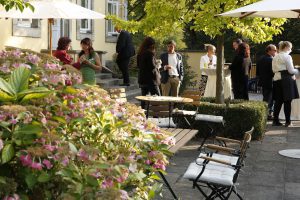
[[(127, 19), (127, 0), (70, 0), (73, 3), (105, 15), (115, 14)], [(49, 27), (47, 20), (39, 19), (0, 19), (0, 49), (14, 46), (34, 51), (48, 49)], [(72, 49), (80, 50), (80, 40), (89, 37), (93, 40), (94, 49), (105, 51), (103, 63), (111, 60), (115, 53), (117, 33), (110, 20), (54, 20), (52, 28), (53, 49), (62, 36), (72, 40)]]

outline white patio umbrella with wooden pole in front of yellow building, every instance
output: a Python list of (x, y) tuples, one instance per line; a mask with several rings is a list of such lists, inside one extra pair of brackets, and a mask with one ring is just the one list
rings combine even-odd
[(25, 8), (23, 12), (11, 9), (0, 11), (0, 18), (47, 19), (49, 24), (49, 48), (52, 54), (53, 19), (104, 19), (105, 15), (74, 4), (68, 0), (32, 0), (34, 11)]

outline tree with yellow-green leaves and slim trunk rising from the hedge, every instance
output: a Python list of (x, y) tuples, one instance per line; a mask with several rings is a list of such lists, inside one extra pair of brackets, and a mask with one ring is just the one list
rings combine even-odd
[[(255, 43), (271, 40), (281, 33), (285, 19), (269, 18), (230, 18), (217, 14), (245, 6), (257, 0), (148, 0), (145, 1), (144, 14), (139, 21), (128, 22), (113, 18), (120, 26), (131, 32), (141, 31), (155, 38), (168, 37), (185, 24), (191, 23), (195, 31), (203, 31), (217, 39), (217, 82), (216, 102), (224, 103), (223, 58), (224, 35), (232, 30)], [(132, 0), (133, 5), (138, 2)], [(132, 15), (134, 19), (134, 14)]]

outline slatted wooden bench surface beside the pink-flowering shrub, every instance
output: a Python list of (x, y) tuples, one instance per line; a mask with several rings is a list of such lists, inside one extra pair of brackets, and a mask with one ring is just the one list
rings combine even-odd
[(181, 128), (161, 128), (164, 131), (171, 132), (175, 138), (175, 145), (169, 148), (169, 151), (176, 153), (188, 141), (190, 141), (197, 133), (195, 129), (181, 129)]

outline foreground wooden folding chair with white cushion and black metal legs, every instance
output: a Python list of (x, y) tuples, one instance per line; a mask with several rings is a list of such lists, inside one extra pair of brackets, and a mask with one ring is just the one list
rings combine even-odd
[[(197, 188), (206, 199), (220, 198), (227, 200), (232, 193), (239, 199), (236, 189), (236, 181), (243, 166), (246, 151), (251, 141), (251, 133), (246, 132), (241, 144), (239, 156), (228, 156), (218, 153), (200, 154), (195, 162), (191, 163), (183, 178), (193, 182), (193, 187)], [(228, 151), (219, 147), (221, 151)], [(209, 188), (210, 193), (206, 193), (203, 187)]]

